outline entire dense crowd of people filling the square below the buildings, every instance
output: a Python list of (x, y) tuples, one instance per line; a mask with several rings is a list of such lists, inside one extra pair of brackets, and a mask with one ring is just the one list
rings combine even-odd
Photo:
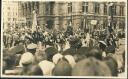
[(124, 72), (114, 57), (122, 32), (105, 29), (47, 32), (38, 28), (3, 33), (3, 74), (38, 76), (118, 76)]

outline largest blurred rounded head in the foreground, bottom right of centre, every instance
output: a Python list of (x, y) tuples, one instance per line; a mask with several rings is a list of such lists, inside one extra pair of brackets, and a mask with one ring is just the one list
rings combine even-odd
[(104, 62), (89, 57), (74, 66), (72, 76), (111, 76), (111, 71)]

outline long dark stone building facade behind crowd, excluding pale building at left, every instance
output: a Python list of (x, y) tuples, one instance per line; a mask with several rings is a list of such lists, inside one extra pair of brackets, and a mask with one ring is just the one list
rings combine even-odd
[[(124, 2), (22, 2), (22, 15), (26, 26), (32, 26), (32, 11), (37, 12), (41, 28), (65, 30), (69, 24), (74, 30), (104, 29), (108, 18), (112, 18), (114, 28), (125, 27), (126, 4)], [(93, 20), (93, 21), (92, 21)], [(95, 22), (96, 24), (92, 24)]]

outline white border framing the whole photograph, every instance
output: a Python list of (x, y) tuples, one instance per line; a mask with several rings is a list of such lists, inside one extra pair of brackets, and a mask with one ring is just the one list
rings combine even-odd
[[(125, 8), (125, 71), (126, 71), (126, 75), (125, 77), (110, 77), (110, 76), (13, 76), (13, 75), (3, 75), (2, 74), (2, 60), (3, 60), (3, 13), (2, 13), (2, 9), (1, 9), (1, 77), (3, 78), (113, 78), (113, 79), (117, 79), (117, 78), (123, 78), (126, 79), (127, 78), (127, 0), (2, 0), (2, 1), (76, 1), (76, 2), (80, 2), (80, 1), (86, 1), (86, 2), (91, 2), (91, 1), (96, 1), (96, 2), (125, 2), (126, 8)], [(3, 7), (3, 5), (2, 5)], [(2, 8), (1, 7), (1, 8)]]

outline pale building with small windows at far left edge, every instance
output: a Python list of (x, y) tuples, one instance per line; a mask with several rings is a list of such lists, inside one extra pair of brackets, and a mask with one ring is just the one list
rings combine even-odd
[(19, 15), (19, 2), (2, 1), (2, 15), (4, 29), (18, 27), (18, 19), (21, 18)]

